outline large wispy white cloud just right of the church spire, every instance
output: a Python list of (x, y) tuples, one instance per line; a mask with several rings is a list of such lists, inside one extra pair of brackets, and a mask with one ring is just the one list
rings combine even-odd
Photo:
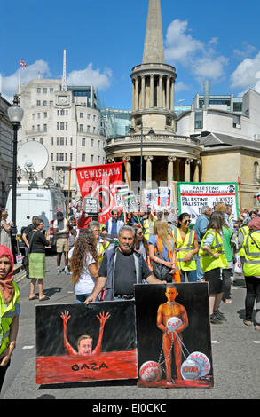
[(205, 78), (216, 81), (223, 77), (228, 59), (217, 53), (218, 38), (212, 37), (205, 43), (189, 32), (187, 20), (176, 19), (169, 24), (165, 58), (173, 65), (188, 68), (199, 83)]

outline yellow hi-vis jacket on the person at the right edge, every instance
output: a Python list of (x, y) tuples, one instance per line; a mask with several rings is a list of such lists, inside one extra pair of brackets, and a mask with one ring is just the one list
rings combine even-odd
[(245, 236), (245, 262), (243, 272), (245, 277), (260, 276), (260, 232), (250, 231)]

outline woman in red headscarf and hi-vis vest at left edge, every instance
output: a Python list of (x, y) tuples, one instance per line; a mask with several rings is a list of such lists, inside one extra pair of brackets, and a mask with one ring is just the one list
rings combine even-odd
[(13, 264), (11, 249), (0, 245), (0, 392), (19, 327), (20, 292), (13, 280)]

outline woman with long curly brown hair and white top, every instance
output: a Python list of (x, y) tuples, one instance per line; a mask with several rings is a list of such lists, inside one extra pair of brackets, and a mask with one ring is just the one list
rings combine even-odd
[(71, 280), (75, 284), (76, 302), (84, 303), (95, 287), (99, 269), (97, 238), (91, 230), (80, 232), (75, 241), (70, 268)]

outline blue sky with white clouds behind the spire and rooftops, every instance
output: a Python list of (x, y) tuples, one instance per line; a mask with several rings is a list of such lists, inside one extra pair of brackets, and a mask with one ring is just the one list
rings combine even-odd
[[(161, 0), (166, 63), (176, 67), (176, 97), (192, 103), (202, 82), (212, 94), (260, 92), (260, 2)], [(141, 64), (148, 0), (13, 0), (0, 24), (2, 93), (17, 88), (19, 58), (24, 82), (59, 78), (67, 50), (67, 81), (94, 84), (106, 106), (130, 109), (131, 68)], [(259, 74), (257, 74), (259, 72)]]

